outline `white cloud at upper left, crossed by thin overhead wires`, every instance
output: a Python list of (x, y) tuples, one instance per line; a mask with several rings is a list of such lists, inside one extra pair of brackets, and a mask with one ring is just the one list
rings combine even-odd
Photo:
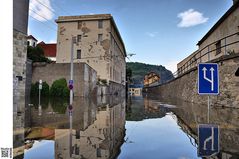
[[(41, 3), (44, 4), (45, 6), (42, 5)], [(29, 14), (33, 18), (36, 18), (39, 21), (51, 20), (54, 16), (51, 10), (53, 10), (53, 8), (51, 6), (50, 0), (31, 0), (30, 1)]]

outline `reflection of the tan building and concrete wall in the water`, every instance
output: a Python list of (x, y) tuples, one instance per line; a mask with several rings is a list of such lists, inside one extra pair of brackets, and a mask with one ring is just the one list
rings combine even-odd
[[(25, 158), (41, 158), (44, 152), (31, 153), (34, 141), (53, 140), (54, 156), (70, 158), (114, 158), (125, 135), (125, 100), (117, 96), (95, 100), (75, 98), (72, 131), (69, 129), (68, 100), (44, 99), (41, 115), (31, 108), (31, 125), (25, 136)], [(33, 102), (34, 103), (34, 102)], [(35, 104), (34, 104), (35, 105)], [(34, 156), (35, 155), (35, 156)], [(40, 155), (40, 156), (39, 156)]]

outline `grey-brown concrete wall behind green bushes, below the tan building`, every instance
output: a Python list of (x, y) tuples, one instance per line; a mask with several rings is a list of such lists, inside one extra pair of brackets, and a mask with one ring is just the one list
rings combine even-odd
[[(42, 79), (49, 86), (60, 78), (70, 80), (69, 63), (52, 63), (52, 64), (34, 64), (32, 73), (32, 83)], [(74, 95), (90, 96), (96, 89), (96, 71), (85, 63), (74, 64)]]

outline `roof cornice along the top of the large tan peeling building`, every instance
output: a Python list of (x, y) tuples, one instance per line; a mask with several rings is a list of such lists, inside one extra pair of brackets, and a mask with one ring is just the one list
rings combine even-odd
[(116, 30), (116, 33), (118, 34), (118, 37), (120, 39), (120, 42), (123, 45), (123, 51), (124, 51), (124, 56), (126, 57), (126, 49), (125, 49), (125, 45), (123, 42), (123, 39), (120, 35), (120, 32), (116, 26), (116, 23), (114, 21), (114, 18), (111, 14), (93, 14), (93, 15), (79, 15), (79, 16), (59, 16), (58, 19), (56, 19), (56, 23), (63, 23), (63, 22), (75, 22), (75, 21), (91, 21), (91, 20), (110, 20)]

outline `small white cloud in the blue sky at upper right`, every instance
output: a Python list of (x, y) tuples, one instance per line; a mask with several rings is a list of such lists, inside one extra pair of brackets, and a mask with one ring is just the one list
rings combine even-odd
[(203, 13), (189, 9), (185, 12), (179, 13), (178, 18), (181, 19), (178, 27), (191, 27), (199, 24), (206, 23), (209, 18), (205, 18)]

